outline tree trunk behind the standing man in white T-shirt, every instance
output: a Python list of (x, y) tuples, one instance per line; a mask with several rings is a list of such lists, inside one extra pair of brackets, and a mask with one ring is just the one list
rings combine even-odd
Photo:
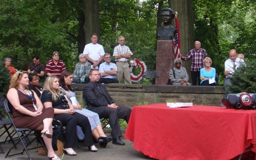
[(96, 33), (100, 39), (100, 4), (99, 0), (80, 0), (80, 2), (83, 11), (79, 12), (80, 34), (82, 34), (79, 37), (79, 53), (82, 53), (85, 44), (91, 42), (92, 33)]

